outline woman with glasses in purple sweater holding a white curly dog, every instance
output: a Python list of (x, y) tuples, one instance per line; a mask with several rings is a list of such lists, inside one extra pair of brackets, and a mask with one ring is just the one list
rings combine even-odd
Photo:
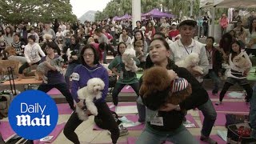
[[(105, 83), (104, 90), (102, 90), (102, 98), (94, 100), (94, 104), (98, 109), (97, 117), (102, 119), (102, 122), (107, 122), (107, 130), (110, 130), (111, 139), (113, 143), (117, 143), (119, 138), (119, 129), (118, 124), (115, 122), (112, 113), (110, 112), (109, 107), (105, 102), (105, 98), (108, 92), (109, 87), (109, 75), (107, 70), (98, 63), (98, 53), (90, 45), (86, 45), (82, 48), (79, 59), (82, 64), (78, 65), (72, 74), (71, 82), (71, 94), (77, 102), (77, 106), (82, 108), (86, 114), (91, 115), (90, 111), (87, 110), (85, 106), (85, 101), (78, 99), (78, 89), (87, 85), (87, 82), (90, 78), (101, 78)], [(66, 122), (63, 133), (66, 138), (75, 144), (80, 143), (78, 140), (78, 135), (74, 133), (74, 130), (82, 123), (83, 121), (78, 118), (77, 113), (72, 113), (69, 120)]]

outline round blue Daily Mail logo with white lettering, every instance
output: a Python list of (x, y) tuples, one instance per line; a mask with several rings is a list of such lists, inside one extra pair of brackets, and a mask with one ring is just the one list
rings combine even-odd
[(58, 108), (52, 98), (39, 90), (18, 94), (8, 111), (10, 126), (22, 138), (46, 137), (58, 122)]

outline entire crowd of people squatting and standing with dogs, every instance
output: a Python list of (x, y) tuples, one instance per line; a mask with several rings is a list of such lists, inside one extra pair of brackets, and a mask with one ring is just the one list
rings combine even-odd
[[(236, 11), (235, 11), (236, 12)], [(253, 13), (253, 12), (252, 12)], [(235, 18), (238, 18), (234, 14)], [(223, 23), (225, 15), (220, 19), (222, 31), (225, 31)], [(252, 137), (256, 138), (256, 110), (255, 110), (255, 87), (251, 88), (246, 78), (252, 66), (249, 55), (244, 52), (253, 52), (256, 46), (256, 18), (250, 19), (250, 36), (245, 34), (245, 28), (242, 27), (242, 21), (237, 19), (234, 30), (222, 35), (219, 47), (214, 47), (214, 38), (207, 37), (206, 45), (194, 40), (195, 27), (198, 25), (192, 18), (184, 18), (181, 22), (170, 22), (166, 18), (161, 21), (148, 20), (145, 22), (136, 22), (134, 30), (131, 29), (131, 23), (114, 22), (112, 18), (102, 22), (77, 22), (70, 25), (68, 22), (58, 22), (54, 24), (46, 22), (44, 25), (26, 26), (21, 23), (15, 26), (0, 26), (0, 50), (2, 59), (8, 59), (10, 53), (7, 47), (14, 47), (15, 56), (26, 58), (26, 62), (19, 67), (18, 77), (22, 80), (24, 70), (32, 65), (38, 65), (40, 62), (47, 62), (50, 72), (46, 75), (48, 83), (42, 82), (38, 90), (48, 92), (52, 88), (57, 88), (66, 97), (70, 109), (75, 110), (75, 106), (82, 108), (86, 114), (90, 115), (84, 100), (78, 99), (77, 91), (86, 86), (90, 78), (102, 78), (105, 83), (102, 90), (102, 98), (95, 100), (94, 104), (98, 108), (97, 118), (102, 122), (107, 122), (106, 129), (110, 130), (113, 143), (117, 143), (120, 135), (120, 128), (110, 111), (110, 108), (118, 106), (118, 94), (126, 85), (131, 86), (138, 96), (138, 122), (136, 125), (146, 123), (145, 129), (139, 136), (138, 144), (155, 144), (165, 141), (174, 143), (198, 143), (190, 134), (186, 127), (182, 125), (185, 119), (186, 111), (194, 108), (202, 111), (204, 120), (201, 130), (201, 141), (207, 143), (216, 143), (210, 138), (211, 130), (214, 126), (217, 114), (214, 106), (202, 86), (204, 78), (212, 78), (214, 87), (212, 94), (218, 94), (221, 82), (220, 77), (226, 74), (226, 82), (219, 94), (219, 102), (216, 105), (224, 105), (222, 99), (226, 91), (238, 82), (246, 90), (246, 102), (250, 102), (250, 124), (252, 127)], [(27, 29), (28, 28), (28, 29)], [(246, 37), (246, 36), (247, 37)], [(246, 41), (246, 38), (250, 39)], [(185, 101), (178, 105), (162, 103), (159, 110), (154, 110), (150, 106), (145, 106), (149, 102), (147, 97), (139, 95), (142, 78), (138, 79), (135, 72), (126, 70), (122, 62), (122, 54), (126, 49), (134, 47), (138, 50), (134, 62), (142, 70), (150, 69), (153, 66), (162, 66), (170, 73), (170, 78), (186, 78), (192, 86), (192, 94)], [(256, 47), (255, 47), (256, 48)], [(113, 105), (106, 104), (106, 95), (108, 92), (109, 72), (103, 63), (106, 63), (106, 56), (114, 55), (108, 68), (113, 74), (118, 76), (118, 81), (112, 92)], [(256, 49), (255, 49), (256, 50)], [(67, 54), (71, 51), (70, 55)], [(193, 67), (187, 69), (178, 67), (175, 62), (185, 59), (191, 53), (199, 56), (198, 66), (202, 67), (203, 73), (194, 70)], [(242, 54), (243, 58), (250, 63), (250, 67), (239, 67), (234, 65), (234, 57)], [(66, 73), (61, 74), (50, 61), (54, 58), (66, 58)], [(223, 69), (222, 63), (230, 65), (230, 69)], [(226, 72), (225, 72), (226, 71)], [(71, 92), (70, 92), (71, 89)], [(156, 93), (158, 95), (158, 93)], [(162, 97), (161, 97), (162, 98)], [(163, 99), (159, 97), (158, 101)], [(75, 105), (74, 105), (75, 102)], [(150, 115), (154, 114), (154, 118)], [(160, 123), (156, 125), (154, 122)], [(64, 134), (71, 142), (80, 143), (78, 135), (74, 130), (83, 121), (78, 118), (77, 113), (71, 114)]]

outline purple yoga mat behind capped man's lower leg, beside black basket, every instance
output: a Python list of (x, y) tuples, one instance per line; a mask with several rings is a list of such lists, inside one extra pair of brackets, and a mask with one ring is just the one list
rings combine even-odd
[[(216, 121), (214, 123), (214, 126), (225, 126), (225, 124), (226, 124), (226, 114), (231, 114), (231, 113), (217, 113), (217, 118), (216, 118)], [(246, 115), (246, 113), (236, 113), (236, 114)], [(199, 117), (200, 117), (201, 122), (203, 122), (204, 116), (203, 116), (201, 111), (199, 111)]]

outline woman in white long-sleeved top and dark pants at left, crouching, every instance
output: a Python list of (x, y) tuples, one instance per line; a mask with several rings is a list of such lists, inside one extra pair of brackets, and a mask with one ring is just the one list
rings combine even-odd
[[(45, 57), (46, 54), (42, 51), (38, 43), (35, 42), (34, 35), (30, 35), (28, 38), (28, 44), (25, 46), (24, 54), (26, 58), (26, 63), (24, 63), (18, 70), (18, 80), (23, 77), (23, 70), (32, 66), (38, 65), (40, 63), (41, 57)], [(40, 54), (40, 55), (39, 55)]]

